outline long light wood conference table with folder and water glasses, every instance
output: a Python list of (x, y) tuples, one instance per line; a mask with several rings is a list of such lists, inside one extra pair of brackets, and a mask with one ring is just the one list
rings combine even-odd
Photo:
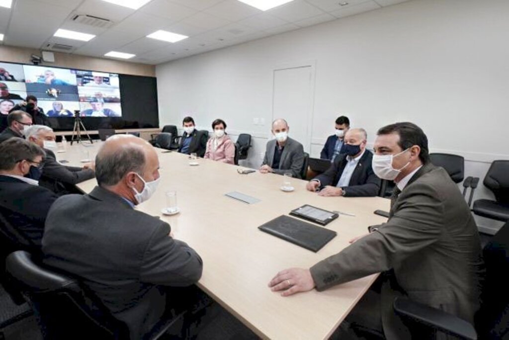
[[(69, 165), (94, 158), (102, 143), (68, 146), (56, 153)], [(88, 146), (87, 146), (88, 145)], [(329, 337), (355, 306), (378, 274), (373, 274), (326, 291), (312, 290), (282, 297), (268, 288), (268, 282), (283, 269), (309, 268), (349, 245), (349, 240), (367, 233), (367, 226), (386, 218), (373, 214), (388, 210), (389, 200), (380, 197), (321, 197), (307, 191), (306, 181), (292, 179), (295, 190), (280, 190), (283, 176), (255, 172), (241, 175), (241, 166), (199, 159), (191, 166), (187, 155), (156, 149), (161, 181), (152, 198), (136, 207), (169, 223), (176, 239), (187, 242), (203, 259), (203, 276), (198, 286), (230, 311), (253, 332), (270, 339), (324, 339)], [(78, 187), (90, 192), (95, 179)], [(161, 213), (165, 193), (177, 191), (180, 212)], [(225, 193), (238, 191), (261, 200), (246, 204)], [(325, 228), (337, 236), (318, 252), (284, 241), (258, 226), (304, 204), (340, 215)], [(143, 228), (140, 225), (139, 228)]]

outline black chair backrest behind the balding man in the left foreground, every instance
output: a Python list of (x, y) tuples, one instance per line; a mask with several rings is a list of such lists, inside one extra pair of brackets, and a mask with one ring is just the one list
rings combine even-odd
[(6, 260), (7, 279), (35, 311), (44, 339), (123, 339), (125, 324), (79, 285), (78, 280), (38, 264), (18, 250)]

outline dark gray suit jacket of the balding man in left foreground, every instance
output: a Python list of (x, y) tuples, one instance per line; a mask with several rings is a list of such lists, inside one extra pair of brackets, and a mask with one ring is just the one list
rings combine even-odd
[(200, 256), (169, 231), (158, 217), (95, 187), (53, 204), (42, 240), (43, 262), (80, 277), (127, 325), (130, 338), (140, 339), (164, 313), (160, 286), (189, 286), (202, 275)]

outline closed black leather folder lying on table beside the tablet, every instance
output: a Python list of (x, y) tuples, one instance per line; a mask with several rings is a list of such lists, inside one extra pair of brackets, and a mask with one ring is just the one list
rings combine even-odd
[(260, 225), (258, 229), (314, 252), (337, 235), (332, 230), (285, 215)]

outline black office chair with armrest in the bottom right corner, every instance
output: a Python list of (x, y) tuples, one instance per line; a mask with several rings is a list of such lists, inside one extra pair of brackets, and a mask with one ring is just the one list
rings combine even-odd
[[(509, 338), (509, 222), (495, 234), (483, 249), (486, 277), (482, 302), (475, 317), (475, 327), (468, 322), (407, 298), (394, 300), (394, 310), (407, 320), (410, 329), (426, 327), (462, 339)], [(422, 328), (421, 328), (422, 329)]]

